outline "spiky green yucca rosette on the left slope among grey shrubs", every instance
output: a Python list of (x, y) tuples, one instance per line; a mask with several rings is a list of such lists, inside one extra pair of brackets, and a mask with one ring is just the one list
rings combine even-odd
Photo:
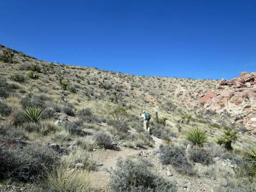
[(28, 107), (24, 110), (23, 115), (29, 122), (38, 122), (44, 115), (44, 108), (38, 106)]

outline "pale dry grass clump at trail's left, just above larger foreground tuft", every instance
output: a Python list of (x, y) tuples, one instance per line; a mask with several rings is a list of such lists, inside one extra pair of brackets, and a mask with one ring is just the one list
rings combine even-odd
[(78, 147), (75, 151), (72, 151), (69, 156), (64, 159), (64, 162), (69, 165), (70, 168), (76, 168), (77, 163), (82, 163), (82, 169), (92, 171), (96, 169), (96, 165), (90, 159), (87, 151)]

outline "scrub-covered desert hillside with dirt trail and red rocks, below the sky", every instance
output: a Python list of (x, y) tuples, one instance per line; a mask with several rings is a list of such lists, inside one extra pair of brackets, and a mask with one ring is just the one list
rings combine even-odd
[(135, 76), (0, 45), (0, 78), (0, 191), (256, 191), (255, 72)]

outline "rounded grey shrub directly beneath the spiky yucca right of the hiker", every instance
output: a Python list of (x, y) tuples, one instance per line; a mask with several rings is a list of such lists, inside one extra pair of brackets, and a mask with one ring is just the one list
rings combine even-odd
[(212, 164), (212, 156), (209, 150), (205, 148), (191, 148), (189, 151), (189, 158), (196, 163), (202, 163), (203, 165)]

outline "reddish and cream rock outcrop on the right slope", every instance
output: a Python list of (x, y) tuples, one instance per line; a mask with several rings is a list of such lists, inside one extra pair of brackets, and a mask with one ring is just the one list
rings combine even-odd
[[(220, 85), (230, 86), (200, 96), (199, 103), (219, 114), (228, 112), (233, 115), (236, 125), (256, 131), (256, 72), (242, 72), (237, 78), (222, 79)], [(237, 115), (241, 118), (237, 119)]]

